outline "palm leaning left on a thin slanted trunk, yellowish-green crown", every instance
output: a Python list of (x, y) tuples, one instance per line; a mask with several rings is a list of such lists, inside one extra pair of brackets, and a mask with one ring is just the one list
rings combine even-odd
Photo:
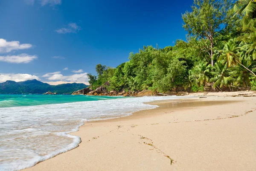
[(253, 71), (249, 70), (247, 67), (241, 64), (240, 58), (242, 53), (239, 52), (239, 50), (242, 50), (241, 47), (237, 45), (236, 41), (230, 39), (227, 43), (224, 44), (224, 48), (222, 50), (218, 50), (215, 56), (218, 57), (218, 61), (223, 61), (224, 64), (227, 63), (228, 68), (239, 64), (256, 77)]

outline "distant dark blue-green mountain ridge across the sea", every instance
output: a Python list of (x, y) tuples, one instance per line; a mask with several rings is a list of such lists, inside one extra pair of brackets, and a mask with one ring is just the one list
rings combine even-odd
[(82, 83), (59, 84), (54, 86), (36, 79), (21, 82), (8, 80), (4, 83), (0, 83), (0, 94), (43, 94), (48, 91), (58, 94), (71, 94), (74, 91), (81, 90), (86, 87), (88, 87), (88, 85)]

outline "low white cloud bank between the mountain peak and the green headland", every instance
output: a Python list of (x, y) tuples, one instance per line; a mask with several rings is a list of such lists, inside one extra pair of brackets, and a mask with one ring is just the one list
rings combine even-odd
[(67, 82), (76, 82), (84, 83), (88, 82), (87, 73), (73, 74), (73, 75), (62, 75), (61, 72), (52, 72), (43, 75), (42, 77), (47, 77), (47, 80), (50, 81), (67, 81)]

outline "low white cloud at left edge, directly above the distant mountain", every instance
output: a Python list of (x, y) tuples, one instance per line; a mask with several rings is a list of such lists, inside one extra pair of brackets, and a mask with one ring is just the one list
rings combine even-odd
[(30, 75), (30, 74), (2, 74), (0, 73), (0, 82), (5, 82), (7, 80), (12, 81), (27, 81), (27, 80), (33, 80), (37, 79), (40, 80), (36, 75)]

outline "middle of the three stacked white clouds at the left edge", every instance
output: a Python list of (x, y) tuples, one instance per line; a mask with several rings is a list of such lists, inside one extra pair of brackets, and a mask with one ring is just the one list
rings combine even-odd
[(16, 64), (21, 64), (21, 63), (27, 64), (37, 58), (38, 57), (36, 55), (28, 55), (26, 53), (23, 53), (20, 55), (0, 56), (0, 61), (8, 62), (8, 63), (16, 63)]

